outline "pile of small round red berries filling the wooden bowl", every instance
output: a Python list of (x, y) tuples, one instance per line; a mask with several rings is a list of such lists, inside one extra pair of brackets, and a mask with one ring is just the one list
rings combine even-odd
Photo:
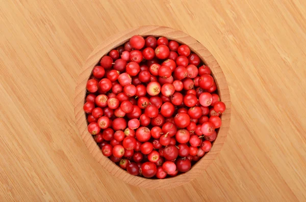
[(186, 172), (211, 150), (225, 110), (210, 74), (187, 45), (133, 36), (92, 70), (84, 104), (88, 131), (131, 175)]

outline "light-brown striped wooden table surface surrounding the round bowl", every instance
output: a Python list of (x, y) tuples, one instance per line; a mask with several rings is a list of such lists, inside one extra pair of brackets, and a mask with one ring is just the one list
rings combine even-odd
[[(306, 201), (306, 2), (0, 0), (1, 201)], [(219, 157), (147, 190), (109, 175), (75, 126), (74, 88), (107, 37), (146, 24), (205, 45), (231, 91)]]

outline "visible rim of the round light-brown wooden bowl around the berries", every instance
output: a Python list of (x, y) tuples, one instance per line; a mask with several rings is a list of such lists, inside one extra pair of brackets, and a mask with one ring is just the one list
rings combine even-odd
[[(94, 66), (98, 64), (103, 55), (107, 54), (113, 48), (116, 48), (124, 44), (126, 41), (129, 41), (129, 39), (134, 35), (141, 35), (143, 37), (164, 36), (168, 39), (173, 39), (179, 43), (188, 45), (190, 49), (199, 55), (200, 59), (211, 68), (212, 75), (217, 84), (220, 99), (226, 104), (226, 111), (221, 116), (222, 126), (218, 131), (216, 140), (213, 142), (211, 151), (206, 153), (205, 156), (203, 156), (195, 165), (193, 165), (188, 172), (172, 178), (158, 180), (130, 175), (102, 154), (100, 148), (97, 146), (97, 143), (87, 130), (87, 120), (86, 114), (83, 110), (83, 105), (86, 95), (86, 82), (91, 75), (91, 71)], [(77, 126), (81, 137), (93, 158), (105, 169), (107, 169), (111, 175), (121, 179), (123, 182), (148, 189), (164, 189), (180, 186), (202, 174), (220, 153), (231, 121), (230, 91), (228, 90), (228, 85), (224, 74), (214, 56), (197, 40), (184, 32), (177, 31), (169, 27), (155, 25), (130, 28), (129, 30), (115, 34), (106, 39), (93, 50), (86, 60), (82, 72), (78, 78), (77, 87), (75, 88), (74, 110), (75, 119), (77, 121)], [(88, 171), (90, 172), (90, 170)]]

